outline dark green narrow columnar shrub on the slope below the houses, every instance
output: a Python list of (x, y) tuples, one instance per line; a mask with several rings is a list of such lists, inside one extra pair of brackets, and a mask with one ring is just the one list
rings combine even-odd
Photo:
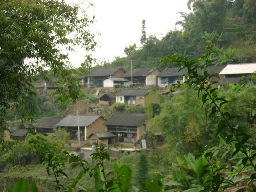
[(148, 159), (146, 150), (142, 150), (138, 157), (135, 179), (141, 188), (145, 188), (145, 180), (148, 178)]

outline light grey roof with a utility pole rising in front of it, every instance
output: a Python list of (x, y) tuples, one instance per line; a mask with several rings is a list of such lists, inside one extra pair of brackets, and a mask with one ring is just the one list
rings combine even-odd
[[(79, 126), (87, 127), (92, 124), (95, 120), (99, 119), (99, 115), (79, 115)], [(69, 115), (62, 119), (56, 126), (62, 127), (77, 127), (77, 116)]]

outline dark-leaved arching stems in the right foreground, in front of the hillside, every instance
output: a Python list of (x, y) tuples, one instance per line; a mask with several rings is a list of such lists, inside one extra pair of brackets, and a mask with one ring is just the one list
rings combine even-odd
[[(253, 143), (250, 143), (251, 136), (246, 133), (244, 127), (239, 124), (236, 124), (236, 120), (238, 120), (241, 116), (234, 114), (232, 115), (225, 108), (228, 104), (228, 101), (220, 96), (220, 91), (218, 88), (213, 88), (212, 84), (209, 84), (208, 79), (212, 78), (214, 75), (210, 75), (207, 72), (207, 67), (211, 66), (212, 63), (212, 54), (218, 53), (218, 51), (214, 48), (212, 44), (205, 48), (208, 53), (204, 54), (200, 59), (189, 60), (184, 56), (169, 56), (164, 57), (164, 62), (172, 62), (175, 61), (180, 69), (187, 68), (189, 79), (186, 81), (190, 87), (193, 87), (197, 90), (198, 96), (201, 95), (202, 107), (205, 108), (205, 113), (207, 114), (208, 119), (215, 119), (215, 116), (219, 116), (218, 125), (216, 129), (216, 136), (218, 136), (221, 132), (227, 133), (225, 138), (227, 145), (230, 143), (235, 143), (235, 151), (232, 154), (232, 157), (238, 153), (244, 155), (242, 160), (243, 168), (247, 166), (251, 166), (254, 171), (256, 171), (256, 165), (254, 163), (255, 147)], [(198, 73), (198, 71), (204, 71), (203, 75)], [(207, 170), (204, 174), (209, 174), (209, 180), (204, 183), (204, 188), (206, 190), (218, 191), (220, 189), (226, 189), (228, 186), (233, 184), (232, 180), (226, 179), (223, 174), (224, 166), (219, 164), (214, 158), (214, 154), (211, 151), (205, 150), (205, 145), (203, 141), (200, 140), (198, 136), (193, 135), (193, 133), (188, 133), (185, 135), (190, 138), (192, 142), (196, 144), (198, 154), (195, 159), (200, 156), (204, 156), (208, 162), (210, 170)], [(248, 145), (250, 143), (251, 145)], [(242, 168), (242, 169), (243, 169)], [(254, 180), (256, 178), (256, 174), (251, 174), (250, 179)], [(255, 190), (255, 188), (254, 188)]]

